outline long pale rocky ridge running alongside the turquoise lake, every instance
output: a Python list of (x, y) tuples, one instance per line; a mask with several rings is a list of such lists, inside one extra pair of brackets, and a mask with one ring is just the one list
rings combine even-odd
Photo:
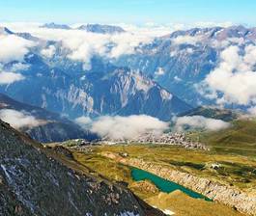
[(163, 177), (167, 180), (174, 181), (193, 191), (196, 191), (197, 193), (205, 195), (214, 202), (224, 203), (241, 211), (242, 213), (253, 216), (256, 215), (256, 197), (254, 195), (249, 195), (242, 192), (235, 187), (233, 188), (228, 185), (220, 184), (204, 177), (198, 177), (176, 171), (170, 167), (146, 162), (142, 159), (124, 158), (113, 153), (104, 153), (103, 155), (111, 159), (118, 160), (119, 162), (127, 164), (128, 166), (136, 167)]

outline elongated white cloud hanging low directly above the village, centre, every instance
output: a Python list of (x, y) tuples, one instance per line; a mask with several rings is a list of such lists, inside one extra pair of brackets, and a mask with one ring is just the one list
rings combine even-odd
[(131, 139), (147, 132), (161, 134), (167, 128), (167, 122), (145, 115), (105, 116), (92, 123), (91, 131), (99, 134), (100, 137)]

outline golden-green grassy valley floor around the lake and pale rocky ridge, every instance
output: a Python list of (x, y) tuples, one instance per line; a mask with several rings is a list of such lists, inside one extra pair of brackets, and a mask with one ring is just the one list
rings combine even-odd
[[(102, 175), (111, 181), (128, 186), (144, 201), (161, 210), (174, 212), (175, 215), (240, 216), (242, 213), (237, 211), (235, 206), (232, 208), (219, 202), (193, 199), (181, 191), (162, 193), (150, 180), (134, 181), (128, 165), (137, 166), (137, 161), (143, 161), (146, 164), (145, 169), (154, 166), (167, 167), (238, 189), (253, 198), (256, 195), (256, 161), (252, 157), (158, 145), (115, 145), (70, 149), (74, 160), (88, 168), (94, 175)], [(140, 164), (137, 167), (139, 166)]]

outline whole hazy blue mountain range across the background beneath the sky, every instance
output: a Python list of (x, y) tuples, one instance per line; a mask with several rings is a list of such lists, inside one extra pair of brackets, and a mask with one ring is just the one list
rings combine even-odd
[[(55, 23), (42, 28), (71, 30), (68, 25)], [(110, 35), (125, 32), (118, 26), (99, 24), (77, 29)], [(255, 28), (194, 28), (157, 37), (115, 58), (93, 53), (90, 67), (85, 68), (83, 61), (71, 58), (71, 50), (63, 46), (63, 41), (14, 33), (7, 28), (1, 28), (0, 34), (37, 44), (28, 48), (22, 62), (2, 63), (4, 71), (21, 63), (24, 67), (17, 70), (23, 79), (0, 85), (1, 93), (71, 119), (146, 114), (162, 121), (198, 105), (214, 105), (215, 101), (199, 93), (195, 85), (217, 67), (227, 44), (243, 47), (256, 39)], [(110, 52), (114, 46), (110, 42), (106, 49)]]

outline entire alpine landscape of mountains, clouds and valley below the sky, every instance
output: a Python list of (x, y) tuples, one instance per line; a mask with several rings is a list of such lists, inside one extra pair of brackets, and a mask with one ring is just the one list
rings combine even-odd
[(256, 216), (256, 28), (0, 24), (0, 215)]

